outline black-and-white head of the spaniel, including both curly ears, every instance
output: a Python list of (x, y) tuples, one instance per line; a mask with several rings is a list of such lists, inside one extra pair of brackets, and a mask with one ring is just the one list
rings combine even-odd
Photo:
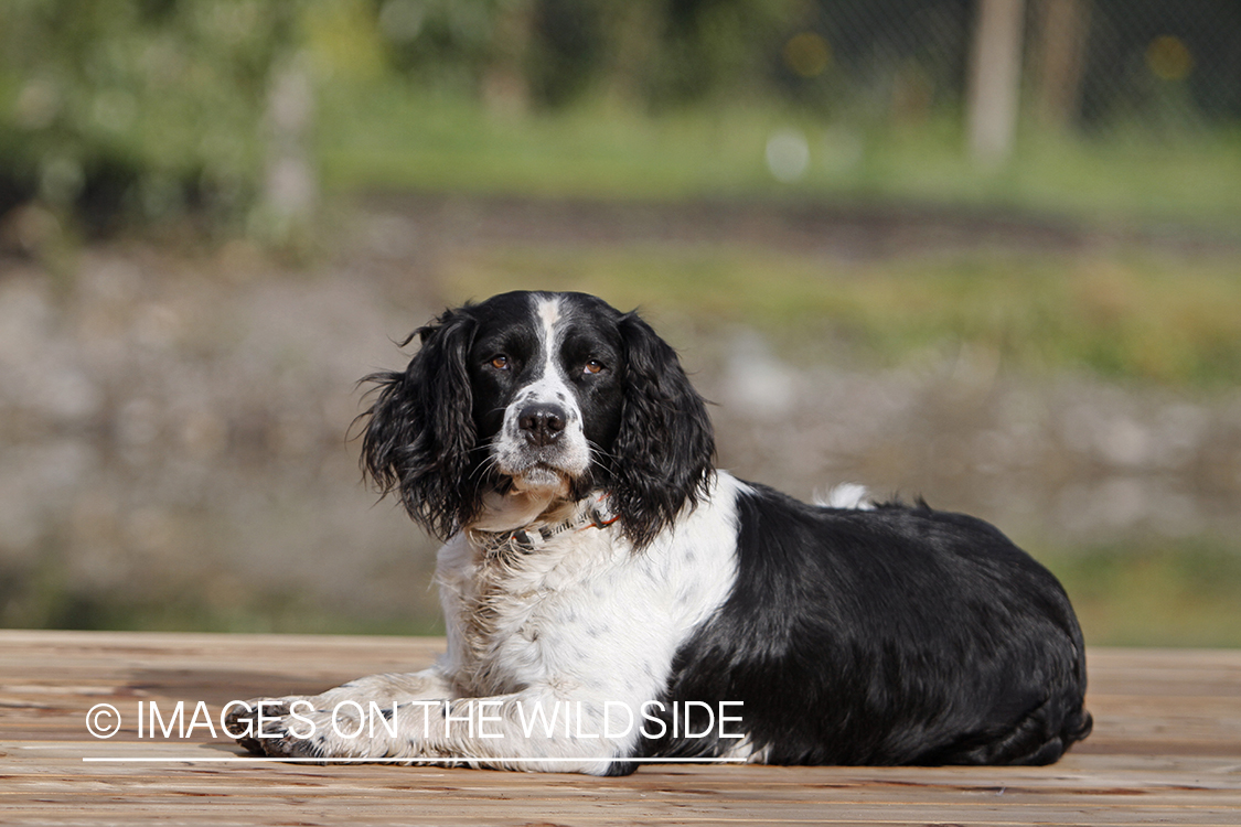
[[(362, 467), (447, 537), (505, 502), (550, 511), (602, 491), (644, 546), (702, 496), (714, 439), (675, 351), (578, 293), (506, 293), (414, 331), (376, 373)], [(516, 508), (514, 511), (520, 511)]]

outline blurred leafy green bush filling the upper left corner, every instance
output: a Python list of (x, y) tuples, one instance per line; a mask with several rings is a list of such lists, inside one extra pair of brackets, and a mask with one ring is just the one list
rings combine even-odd
[(298, 4), (0, 4), (0, 211), (37, 196), (91, 228), (253, 201), (268, 76)]

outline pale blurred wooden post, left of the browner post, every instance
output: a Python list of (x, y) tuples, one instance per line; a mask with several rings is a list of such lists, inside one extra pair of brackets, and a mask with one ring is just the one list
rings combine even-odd
[(969, 63), (969, 156), (997, 167), (1013, 151), (1021, 88), (1025, 0), (978, 0)]

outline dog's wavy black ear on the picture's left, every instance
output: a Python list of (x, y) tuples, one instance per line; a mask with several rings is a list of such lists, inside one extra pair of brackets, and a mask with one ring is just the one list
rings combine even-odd
[(475, 443), (467, 360), (477, 324), (468, 309), (449, 310), (416, 330), (422, 347), (402, 373), (372, 373), (377, 387), (365, 422), (361, 465), (386, 496), (396, 492), (410, 516), (441, 538), (474, 516)]

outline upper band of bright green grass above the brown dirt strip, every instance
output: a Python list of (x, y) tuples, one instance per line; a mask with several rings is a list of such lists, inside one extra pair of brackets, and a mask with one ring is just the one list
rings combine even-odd
[[(975, 169), (959, 118), (874, 126), (732, 100), (652, 115), (588, 100), (501, 117), (449, 93), (395, 81), (324, 91), (319, 156), (338, 191), (431, 190), (549, 197), (688, 200), (820, 197), (1065, 214), (1088, 221), (1241, 226), (1241, 129), (1158, 136), (1030, 133), (1011, 164)], [(799, 129), (809, 166), (777, 182), (764, 148)]]

